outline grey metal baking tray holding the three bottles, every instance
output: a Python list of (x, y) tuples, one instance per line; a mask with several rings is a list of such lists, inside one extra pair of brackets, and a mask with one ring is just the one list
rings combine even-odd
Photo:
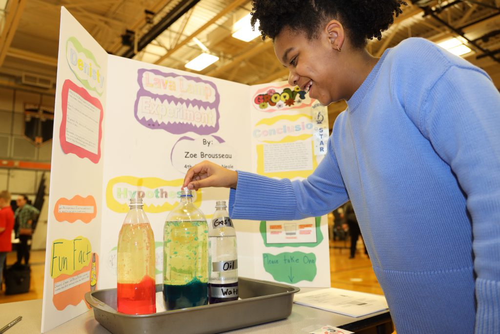
[[(156, 284), (161, 292), (163, 284)], [(113, 334), (219, 333), (288, 317), (293, 294), (300, 289), (275, 282), (238, 278), (240, 299), (153, 314), (129, 315), (116, 311), (116, 289), (85, 293), (95, 319)]]

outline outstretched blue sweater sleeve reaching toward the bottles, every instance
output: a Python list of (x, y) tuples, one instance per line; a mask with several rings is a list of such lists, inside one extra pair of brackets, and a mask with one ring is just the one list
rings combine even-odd
[(347, 201), (331, 137), (328, 154), (305, 180), (276, 180), (238, 171), (236, 189), (229, 193), (232, 218), (295, 220), (320, 216)]

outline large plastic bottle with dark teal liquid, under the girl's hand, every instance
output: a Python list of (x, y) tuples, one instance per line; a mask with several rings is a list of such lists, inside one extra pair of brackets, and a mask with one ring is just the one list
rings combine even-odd
[(163, 297), (166, 308), (208, 303), (208, 226), (182, 189), (180, 203), (168, 214), (163, 229)]

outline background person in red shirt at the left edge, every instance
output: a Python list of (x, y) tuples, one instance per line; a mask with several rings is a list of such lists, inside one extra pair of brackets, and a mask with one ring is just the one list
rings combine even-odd
[(3, 279), (3, 264), (7, 253), (12, 250), (12, 228), (14, 228), (14, 212), (10, 207), (10, 194), (0, 192), (0, 288)]

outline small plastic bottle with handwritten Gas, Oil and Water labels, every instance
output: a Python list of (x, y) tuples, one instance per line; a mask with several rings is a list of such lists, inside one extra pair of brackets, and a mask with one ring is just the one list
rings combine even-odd
[(210, 304), (238, 299), (238, 257), (236, 231), (225, 201), (217, 201), (208, 227), (211, 273), (208, 279)]

